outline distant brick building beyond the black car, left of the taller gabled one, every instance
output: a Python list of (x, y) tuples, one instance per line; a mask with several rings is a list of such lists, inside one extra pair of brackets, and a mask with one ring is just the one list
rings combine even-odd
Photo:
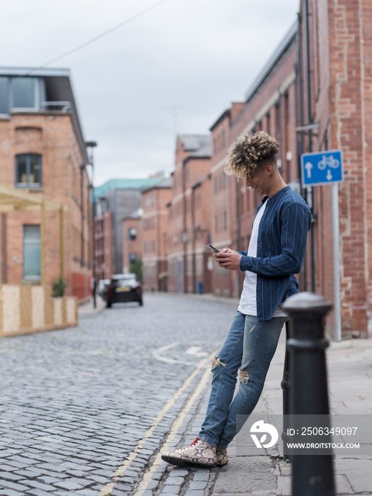
[(168, 289), (168, 210), (171, 200), (171, 179), (142, 191), (140, 227), (142, 274), (146, 291)]

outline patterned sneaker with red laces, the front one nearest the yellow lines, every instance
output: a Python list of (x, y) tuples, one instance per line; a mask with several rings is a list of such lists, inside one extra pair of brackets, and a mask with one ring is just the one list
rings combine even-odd
[(162, 459), (179, 467), (213, 468), (217, 465), (215, 447), (198, 437), (187, 448), (166, 451)]

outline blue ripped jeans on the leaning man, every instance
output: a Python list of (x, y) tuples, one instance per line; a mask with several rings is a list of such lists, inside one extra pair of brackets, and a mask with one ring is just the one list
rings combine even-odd
[[(288, 317), (257, 320), (235, 314), (222, 347), (213, 361), (212, 389), (199, 438), (226, 448), (242, 425), (237, 415), (250, 415), (257, 405), (279, 336)], [(234, 396), (239, 370), (239, 390)]]

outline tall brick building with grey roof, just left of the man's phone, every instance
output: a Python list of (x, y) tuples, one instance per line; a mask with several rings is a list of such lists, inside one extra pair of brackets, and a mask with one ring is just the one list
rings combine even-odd
[(179, 293), (208, 291), (210, 136), (179, 135), (175, 162), (168, 205), (168, 288)]

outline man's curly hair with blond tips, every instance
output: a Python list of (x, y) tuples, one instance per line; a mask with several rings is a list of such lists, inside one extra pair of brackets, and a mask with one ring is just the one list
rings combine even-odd
[(237, 179), (250, 179), (259, 163), (273, 157), (279, 151), (279, 143), (264, 131), (241, 137), (227, 157), (225, 174)]

